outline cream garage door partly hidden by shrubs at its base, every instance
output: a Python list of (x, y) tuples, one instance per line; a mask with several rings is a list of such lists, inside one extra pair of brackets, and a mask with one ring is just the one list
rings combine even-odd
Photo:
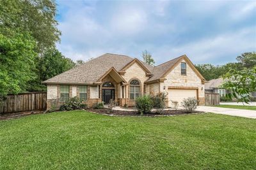
[(196, 98), (196, 90), (191, 89), (169, 89), (168, 90), (168, 99), (169, 107), (172, 106), (172, 101), (177, 101), (181, 103), (183, 99), (188, 97)]

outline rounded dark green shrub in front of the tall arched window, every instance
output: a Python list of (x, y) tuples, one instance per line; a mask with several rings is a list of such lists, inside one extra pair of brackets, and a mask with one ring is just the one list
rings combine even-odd
[(153, 108), (152, 99), (147, 95), (138, 97), (135, 101), (135, 106), (141, 115), (150, 113)]

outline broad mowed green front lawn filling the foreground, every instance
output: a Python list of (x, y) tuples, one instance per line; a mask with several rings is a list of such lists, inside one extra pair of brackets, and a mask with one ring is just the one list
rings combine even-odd
[(0, 169), (254, 169), (256, 121), (85, 111), (0, 121)]

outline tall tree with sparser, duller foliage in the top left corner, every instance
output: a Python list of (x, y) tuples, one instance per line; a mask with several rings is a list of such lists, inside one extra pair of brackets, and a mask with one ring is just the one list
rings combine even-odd
[(57, 26), (54, 0), (0, 1), (0, 32), (8, 35), (29, 32), (38, 53), (60, 41)]

